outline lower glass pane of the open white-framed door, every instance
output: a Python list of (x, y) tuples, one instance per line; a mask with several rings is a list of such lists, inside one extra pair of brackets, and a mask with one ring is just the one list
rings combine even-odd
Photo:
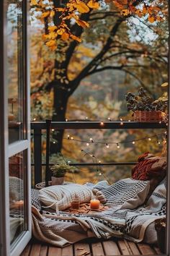
[(9, 158), (9, 219), (10, 242), (17, 239), (27, 229), (25, 216), (26, 195), (24, 181), (26, 176), (26, 152), (17, 153)]

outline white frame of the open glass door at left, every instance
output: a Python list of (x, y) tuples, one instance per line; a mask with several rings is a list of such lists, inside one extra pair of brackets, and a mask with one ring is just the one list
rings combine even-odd
[[(24, 35), (27, 38), (27, 27), (29, 23), (28, 7), (29, 0), (24, 1)], [(24, 43), (24, 84), (25, 84), (25, 101), (27, 111), (27, 140), (19, 140), (9, 145), (9, 131), (8, 131), (8, 83), (6, 77), (6, 0), (0, 1), (0, 255), (1, 256), (18, 256), (30, 241), (31, 232), (31, 203), (30, 203), (30, 188), (31, 188), (31, 161), (30, 161), (30, 61), (27, 58), (28, 54), (28, 40)], [(27, 150), (27, 186), (25, 188), (27, 195), (27, 231), (16, 239), (10, 247), (10, 226), (9, 226), (9, 157), (12, 155)]]

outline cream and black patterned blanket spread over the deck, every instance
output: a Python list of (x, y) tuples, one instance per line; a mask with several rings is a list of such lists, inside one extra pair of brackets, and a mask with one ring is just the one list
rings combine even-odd
[[(112, 192), (115, 193), (116, 199), (112, 197), (112, 200), (109, 201), (109, 209), (102, 213), (73, 215), (61, 211), (50, 213), (45, 210), (40, 213), (36, 208), (32, 207), (33, 235), (43, 242), (49, 242), (58, 247), (63, 247), (91, 236), (104, 239), (115, 236), (129, 239), (133, 242), (142, 242), (148, 226), (156, 219), (163, 218), (166, 215), (166, 180), (164, 179), (156, 187), (146, 205), (140, 204), (146, 200), (148, 182), (141, 182), (137, 187), (133, 181), (131, 181), (131, 184), (130, 180), (122, 181), (125, 184), (118, 183), (118, 185), (115, 184), (112, 187), (108, 186), (110, 196), (108, 196), (107, 201), (112, 197)], [(122, 193), (119, 196), (117, 187), (120, 184), (125, 186), (121, 186)], [(127, 184), (130, 184), (129, 186), (131, 187), (129, 191), (126, 187)], [(106, 184), (104, 189), (101, 188), (107, 197)], [(133, 200), (127, 194), (131, 194)], [(138, 202), (135, 202), (135, 200)]]

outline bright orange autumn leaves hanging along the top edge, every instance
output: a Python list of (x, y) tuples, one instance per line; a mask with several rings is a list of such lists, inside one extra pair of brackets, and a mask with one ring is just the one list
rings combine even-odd
[[(164, 20), (164, 14), (161, 12), (160, 7), (156, 5), (146, 4), (146, 1), (142, 4), (138, 4), (136, 0), (104, 0), (106, 2), (112, 2), (115, 8), (120, 11), (124, 16), (135, 14), (138, 17), (148, 15), (148, 21), (153, 23), (155, 21)], [(163, 0), (158, 0), (163, 1)], [(81, 42), (81, 38), (73, 35), (71, 21), (73, 24), (77, 24), (82, 28), (89, 27), (89, 23), (81, 18), (81, 14), (87, 14), (92, 9), (99, 9), (100, 4), (98, 0), (68, 0), (65, 7), (56, 7), (53, 4), (53, 0), (30, 0), (31, 8), (35, 9), (35, 12), (41, 12), (38, 17), (42, 22), (45, 22), (46, 30), (42, 35), (45, 40), (46, 46), (52, 51), (57, 48), (57, 40), (61, 38), (63, 41), (76, 40)], [(58, 25), (55, 25), (53, 20), (55, 16), (58, 17)], [(49, 25), (50, 24), (50, 25)]]

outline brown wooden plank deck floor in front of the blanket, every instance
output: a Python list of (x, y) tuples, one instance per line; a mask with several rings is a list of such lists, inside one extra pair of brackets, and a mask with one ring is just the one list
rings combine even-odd
[(158, 247), (134, 244), (125, 240), (100, 241), (90, 239), (68, 247), (58, 248), (49, 244), (30, 242), (20, 256), (113, 256), (113, 255), (162, 255)]

